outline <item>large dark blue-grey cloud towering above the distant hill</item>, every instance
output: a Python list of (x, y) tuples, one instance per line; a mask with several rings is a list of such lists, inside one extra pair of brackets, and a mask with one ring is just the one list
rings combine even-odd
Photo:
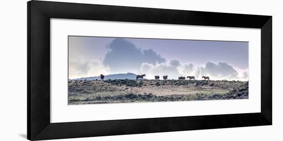
[(115, 73), (125, 73), (125, 70), (136, 72), (140, 69), (141, 63), (155, 64), (166, 61), (154, 50), (141, 50), (125, 39), (117, 38), (107, 48), (110, 50), (103, 59), (103, 65), (109, 66), (111, 72)]

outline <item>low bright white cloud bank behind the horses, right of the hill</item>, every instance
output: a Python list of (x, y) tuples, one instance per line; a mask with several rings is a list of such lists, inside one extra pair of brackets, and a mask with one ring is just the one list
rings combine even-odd
[[(177, 62), (173, 61), (173, 62)], [(179, 64), (179, 65), (176, 65)], [(249, 78), (249, 70), (240, 69), (227, 62), (211, 62), (205, 65), (195, 65), (192, 63), (142, 63), (140, 66), (140, 74), (146, 74), (147, 79), (154, 79), (155, 75), (168, 75), (168, 79), (178, 79), (179, 76), (194, 76), (196, 79), (202, 79), (202, 76), (209, 76), (211, 80), (241, 80), (247, 81)]]

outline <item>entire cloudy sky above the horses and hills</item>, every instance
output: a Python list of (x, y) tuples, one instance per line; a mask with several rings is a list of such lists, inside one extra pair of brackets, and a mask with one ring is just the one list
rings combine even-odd
[(249, 78), (249, 43), (112, 37), (68, 37), (69, 79), (119, 73)]

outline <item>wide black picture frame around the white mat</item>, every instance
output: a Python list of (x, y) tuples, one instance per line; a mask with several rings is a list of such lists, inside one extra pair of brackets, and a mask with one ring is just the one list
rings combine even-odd
[[(261, 29), (261, 112), (50, 123), (50, 18), (259, 28)], [(44, 1), (27, 2), (28, 139), (266, 125), (272, 125), (272, 16)]]

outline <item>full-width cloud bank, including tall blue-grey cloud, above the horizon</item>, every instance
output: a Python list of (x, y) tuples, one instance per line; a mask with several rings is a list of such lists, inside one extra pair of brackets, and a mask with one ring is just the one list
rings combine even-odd
[[(243, 70), (227, 62), (193, 64), (179, 60), (166, 60), (152, 49), (140, 49), (132, 42), (117, 38), (108, 44), (109, 51), (101, 60), (69, 60), (69, 76), (74, 78), (99, 76), (100, 74), (135, 73), (146, 74), (147, 79), (155, 75), (168, 75), (168, 79), (194, 76), (211, 80), (243, 80), (249, 78), (249, 70)], [(70, 78), (73, 79), (73, 78)]]

